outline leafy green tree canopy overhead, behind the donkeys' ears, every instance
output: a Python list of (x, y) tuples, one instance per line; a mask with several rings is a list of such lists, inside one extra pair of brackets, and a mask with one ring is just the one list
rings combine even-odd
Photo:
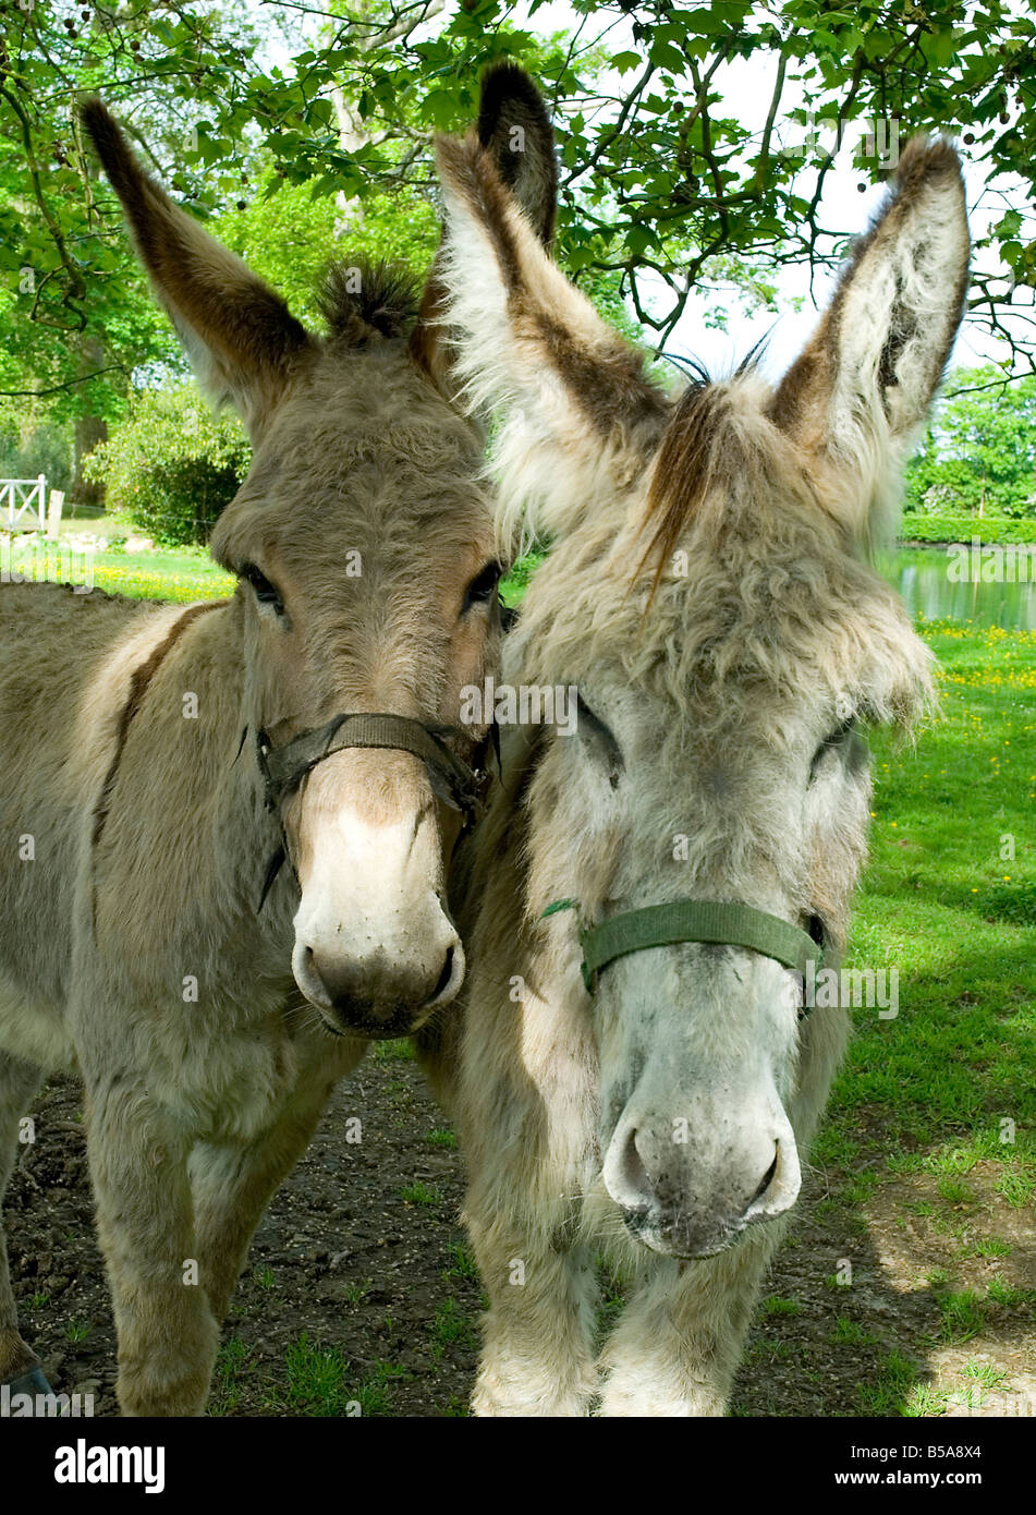
[[(92, 414), (115, 418), (133, 373), (182, 371), (83, 150), (82, 94), (101, 92), (174, 192), (306, 314), (336, 242), (427, 262), (433, 133), (471, 121), (479, 76), (500, 56), (526, 64), (556, 109), (562, 262), (613, 303), (629, 297), (659, 345), (691, 288), (733, 283), (771, 305), (783, 265), (841, 256), (839, 229), (819, 221), (825, 180), (847, 171), (816, 133), (830, 121), (853, 139), (872, 129), (848, 170), (860, 185), (891, 171), (894, 133), (960, 133), (1001, 206), (977, 248), (969, 314), (1033, 368), (1025, 6), (571, 0), (563, 35), (542, 33), (541, 9), (0, 0), (0, 391), (20, 403), (42, 391), (61, 420), (89, 389)], [(997, 198), (1004, 174), (1015, 188)]]

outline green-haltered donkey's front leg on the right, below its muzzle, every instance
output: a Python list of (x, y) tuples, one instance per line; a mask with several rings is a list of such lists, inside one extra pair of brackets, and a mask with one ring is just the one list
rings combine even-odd
[(601, 1354), (601, 1415), (724, 1415), (783, 1226), (703, 1262), (660, 1259)]

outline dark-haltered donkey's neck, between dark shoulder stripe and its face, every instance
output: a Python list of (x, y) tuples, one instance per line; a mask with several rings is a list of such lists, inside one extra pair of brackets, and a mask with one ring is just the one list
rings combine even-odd
[(244, 688), (239, 601), (167, 626), (130, 676), (92, 826), (98, 942), (144, 973), (194, 951), (242, 1006), (256, 979), (291, 985), (294, 911), (285, 880), (256, 909), (279, 833), (254, 733), (242, 742)]

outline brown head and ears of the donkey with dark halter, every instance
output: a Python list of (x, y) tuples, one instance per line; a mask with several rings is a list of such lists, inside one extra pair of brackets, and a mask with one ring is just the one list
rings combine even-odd
[[(501, 117), (524, 123), (541, 164), (527, 182), (501, 158)], [(459, 691), (495, 659), (500, 570), (482, 436), (438, 339), (436, 268), (417, 321), (404, 279), (333, 270), (329, 330), (312, 335), (142, 173), (100, 102), (83, 120), (201, 388), (251, 436), (211, 542), (239, 580), (250, 751), (261, 730), (276, 748), (339, 714), (388, 712), (470, 761), (485, 730), (457, 730)], [(524, 76), (489, 76), (479, 133), (548, 235), (553, 145)], [(330, 1029), (397, 1036), (460, 986), (442, 903), (459, 820), (433, 777), (409, 750), (345, 747), (283, 801), (301, 889), (292, 970)]]

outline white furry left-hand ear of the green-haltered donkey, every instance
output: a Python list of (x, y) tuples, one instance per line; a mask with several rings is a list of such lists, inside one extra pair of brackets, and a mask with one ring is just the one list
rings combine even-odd
[[(495, 76), (488, 94), (495, 108)], [(479, 136), (438, 142), (454, 374), (471, 409), (501, 412), (492, 447), (507, 545), (523, 526), (526, 535), (565, 533), (627, 488), (669, 412), (644, 376), (644, 355), (547, 255), (553, 211), (548, 218), (542, 180), (500, 152), (512, 111), (497, 108), (492, 127), (480, 120)]]

